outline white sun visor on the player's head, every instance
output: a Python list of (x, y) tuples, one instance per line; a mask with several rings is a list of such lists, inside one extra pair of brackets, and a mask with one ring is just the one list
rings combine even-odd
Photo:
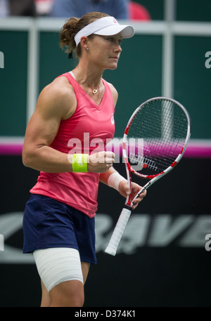
[(82, 37), (87, 37), (90, 34), (113, 36), (118, 33), (121, 34), (122, 38), (131, 38), (134, 36), (135, 30), (131, 25), (120, 25), (114, 17), (109, 16), (89, 23), (75, 35), (74, 39), (77, 46)]

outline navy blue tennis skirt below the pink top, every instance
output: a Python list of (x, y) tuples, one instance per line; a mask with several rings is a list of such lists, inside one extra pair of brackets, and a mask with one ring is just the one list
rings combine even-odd
[(94, 218), (66, 204), (32, 194), (23, 216), (23, 253), (51, 247), (77, 249), (81, 261), (96, 264)]

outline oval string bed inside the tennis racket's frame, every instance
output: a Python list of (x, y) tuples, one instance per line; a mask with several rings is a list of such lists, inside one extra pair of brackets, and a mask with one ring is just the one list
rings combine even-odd
[(170, 166), (184, 147), (187, 119), (172, 101), (153, 100), (140, 108), (127, 133), (131, 166), (144, 175), (160, 173)]

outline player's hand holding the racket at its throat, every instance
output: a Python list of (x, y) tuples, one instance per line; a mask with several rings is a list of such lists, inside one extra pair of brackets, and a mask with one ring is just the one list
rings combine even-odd
[[(139, 192), (139, 190), (141, 190), (141, 188), (142, 187), (140, 185), (138, 185), (136, 183), (132, 183), (132, 195), (131, 195), (132, 199), (136, 196), (136, 194)], [(126, 180), (120, 181), (119, 192), (120, 192), (120, 195), (122, 195), (124, 197), (127, 197), (129, 195), (129, 186), (128, 186), (128, 183)], [(145, 196), (146, 196), (146, 190), (141, 192), (139, 197), (134, 199), (132, 209), (135, 209), (138, 206), (139, 202), (141, 202), (143, 197), (145, 197)]]

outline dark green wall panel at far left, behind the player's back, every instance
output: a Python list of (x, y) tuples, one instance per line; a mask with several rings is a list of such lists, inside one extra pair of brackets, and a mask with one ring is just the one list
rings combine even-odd
[(27, 32), (0, 31), (0, 136), (23, 136), (27, 108)]

